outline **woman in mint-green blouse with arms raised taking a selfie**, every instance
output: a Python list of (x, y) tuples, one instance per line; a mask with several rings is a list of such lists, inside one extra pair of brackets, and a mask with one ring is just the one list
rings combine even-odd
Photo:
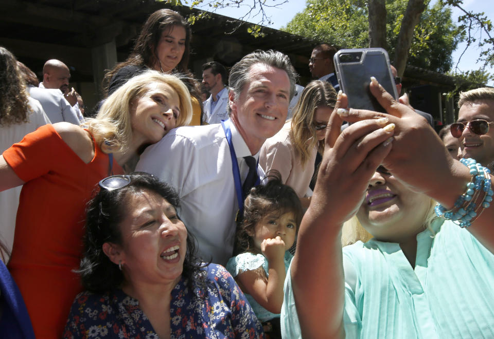
[[(340, 95), (331, 115), (331, 126), (353, 124), (326, 134), (287, 273), (284, 335), (493, 337), (490, 174), (453, 159), (406, 96), (395, 101), (374, 78), (370, 90), (387, 114), (348, 110)], [(374, 238), (342, 249), (354, 215)]]

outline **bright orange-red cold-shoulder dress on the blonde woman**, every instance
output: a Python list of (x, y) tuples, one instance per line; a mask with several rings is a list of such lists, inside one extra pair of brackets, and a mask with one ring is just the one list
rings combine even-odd
[[(26, 135), (3, 156), (25, 184), (8, 268), (21, 290), (37, 338), (59, 338), (75, 296), (72, 270), (82, 256), (84, 214), (98, 181), (109, 176), (109, 156), (94, 143), (84, 163), (52, 125)], [(114, 174), (122, 168), (114, 161)]]

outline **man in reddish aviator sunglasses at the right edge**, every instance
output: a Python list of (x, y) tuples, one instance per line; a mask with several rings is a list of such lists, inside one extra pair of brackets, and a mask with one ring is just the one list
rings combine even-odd
[(494, 169), (494, 88), (477, 88), (460, 93), (458, 121), (451, 134), (460, 139), (464, 158), (473, 158)]

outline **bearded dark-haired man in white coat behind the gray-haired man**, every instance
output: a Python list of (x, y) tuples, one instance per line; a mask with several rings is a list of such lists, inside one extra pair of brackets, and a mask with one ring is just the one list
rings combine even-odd
[(202, 85), (211, 93), (204, 101), (204, 113), (208, 124), (219, 124), (228, 119), (228, 88), (225, 87), (226, 68), (219, 62), (212, 61), (202, 65)]

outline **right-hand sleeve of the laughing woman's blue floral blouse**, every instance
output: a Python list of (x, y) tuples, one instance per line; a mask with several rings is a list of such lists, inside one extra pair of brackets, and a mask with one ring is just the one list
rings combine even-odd
[(232, 312), (234, 337), (239, 339), (265, 338), (261, 324), (235, 279), (224, 267), (214, 266), (216, 266), (215, 280), (219, 285), (220, 293), (225, 303), (229, 303)]

